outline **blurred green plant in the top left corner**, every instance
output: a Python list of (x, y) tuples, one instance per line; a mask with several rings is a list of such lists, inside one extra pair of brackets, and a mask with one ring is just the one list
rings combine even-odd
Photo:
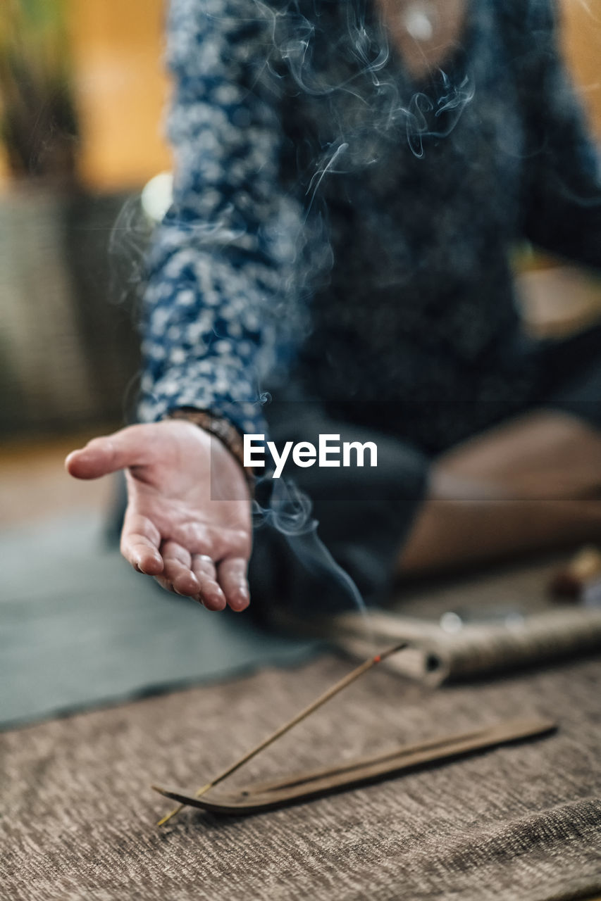
[(1, 0), (0, 140), (15, 176), (70, 181), (77, 115), (65, 0)]

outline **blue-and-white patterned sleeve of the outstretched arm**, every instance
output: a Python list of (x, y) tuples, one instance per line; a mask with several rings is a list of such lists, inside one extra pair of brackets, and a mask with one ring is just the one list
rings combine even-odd
[(266, 9), (258, 0), (171, 0), (175, 176), (143, 298), (143, 421), (193, 406), (242, 432), (265, 431), (261, 387), (287, 318), (300, 218), (279, 187), (279, 101), (262, 79)]

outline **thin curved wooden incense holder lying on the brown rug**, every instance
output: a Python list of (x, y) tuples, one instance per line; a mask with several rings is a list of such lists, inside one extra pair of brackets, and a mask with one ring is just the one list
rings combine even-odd
[(428, 764), (446, 763), (476, 751), (485, 751), (510, 742), (536, 738), (554, 732), (550, 720), (531, 717), (505, 720), (468, 733), (401, 745), (374, 757), (348, 760), (336, 767), (294, 773), (270, 782), (258, 782), (234, 792), (207, 790), (201, 796), (187, 795), (177, 788), (153, 786), (160, 795), (180, 805), (199, 807), (213, 814), (259, 814), (291, 804), (356, 788)]

